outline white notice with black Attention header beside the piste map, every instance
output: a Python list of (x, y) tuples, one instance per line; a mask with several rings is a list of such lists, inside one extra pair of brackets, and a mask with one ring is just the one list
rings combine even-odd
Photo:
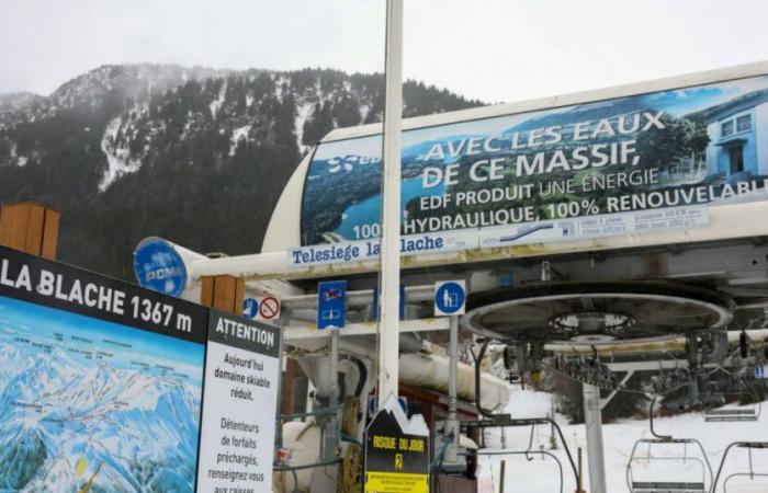
[(197, 492), (272, 491), (278, 329), (211, 311)]

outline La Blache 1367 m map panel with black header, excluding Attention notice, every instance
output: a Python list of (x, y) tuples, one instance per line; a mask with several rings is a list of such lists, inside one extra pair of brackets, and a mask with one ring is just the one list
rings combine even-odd
[(0, 490), (192, 493), (206, 321), (0, 248)]

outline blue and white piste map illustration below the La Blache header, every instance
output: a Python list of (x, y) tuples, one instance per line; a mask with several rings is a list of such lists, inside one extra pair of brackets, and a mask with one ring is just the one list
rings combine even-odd
[(0, 492), (192, 492), (203, 345), (0, 296)]

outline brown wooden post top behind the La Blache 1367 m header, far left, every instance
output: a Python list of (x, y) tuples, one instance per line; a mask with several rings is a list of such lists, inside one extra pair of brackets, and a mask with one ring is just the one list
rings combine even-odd
[(60, 215), (34, 202), (0, 207), (0, 245), (56, 260)]

